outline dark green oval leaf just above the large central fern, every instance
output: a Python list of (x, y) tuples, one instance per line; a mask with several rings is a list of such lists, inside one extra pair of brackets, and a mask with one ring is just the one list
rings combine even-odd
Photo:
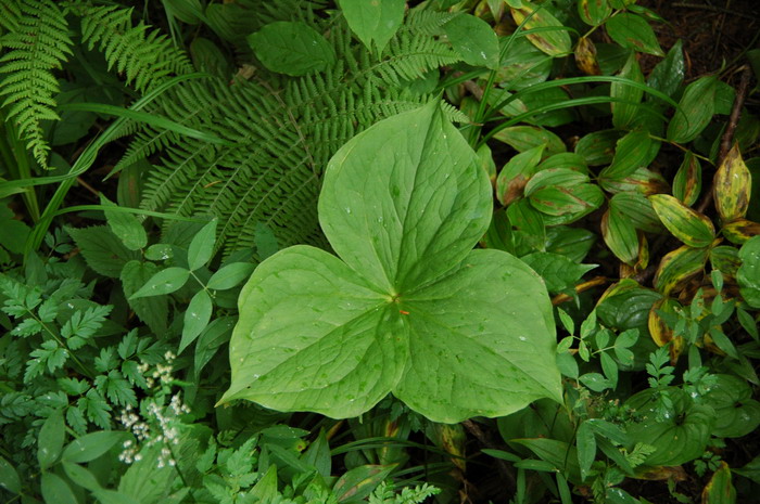
[(248, 36), (256, 57), (269, 70), (293, 77), (324, 72), (335, 52), (317, 30), (303, 22), (278, 21)]

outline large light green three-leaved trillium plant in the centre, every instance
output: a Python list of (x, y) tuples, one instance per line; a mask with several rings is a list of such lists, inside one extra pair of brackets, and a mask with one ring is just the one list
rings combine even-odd
[(220, 403), (351, 417), (393, 393), (454, 423), (561, 402), (544, 283), (507, 253), (472, 249), (491, 186), (438, 103), (347, 142), (318, 208), (338, 257), (294, 246), (256, 268)]

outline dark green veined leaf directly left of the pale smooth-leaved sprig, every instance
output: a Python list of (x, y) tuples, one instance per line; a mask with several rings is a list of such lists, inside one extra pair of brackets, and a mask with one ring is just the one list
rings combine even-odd
[(105, 225), (92, 228), (66, 228), (74, 238), (87, 266), (96, 273), (118, 279), (122, 268), (132, 259), (139, 259), (139, 253), (129, 250), (121, 240)]

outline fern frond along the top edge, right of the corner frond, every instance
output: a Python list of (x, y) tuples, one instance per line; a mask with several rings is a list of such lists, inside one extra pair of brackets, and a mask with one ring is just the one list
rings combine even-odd
[(165, 35), (142, 22), (135, 25), (131, 9), (74, 3), (81, 16), (81, 38), (89, 49), (98, 48), (109, 69), (124, 74), (128, 85), (147, 91), (173, 75), (192, 72), (190, 60)]

